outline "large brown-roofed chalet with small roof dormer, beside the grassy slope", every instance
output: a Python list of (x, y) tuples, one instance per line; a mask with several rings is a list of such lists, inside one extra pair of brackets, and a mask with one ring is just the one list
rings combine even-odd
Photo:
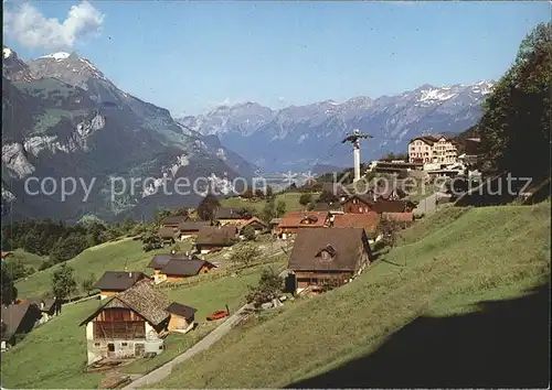
[(371, 249), (362, 228), (301, 229), (289, 257), (295, 293), (340, 286), (370, 264)]

